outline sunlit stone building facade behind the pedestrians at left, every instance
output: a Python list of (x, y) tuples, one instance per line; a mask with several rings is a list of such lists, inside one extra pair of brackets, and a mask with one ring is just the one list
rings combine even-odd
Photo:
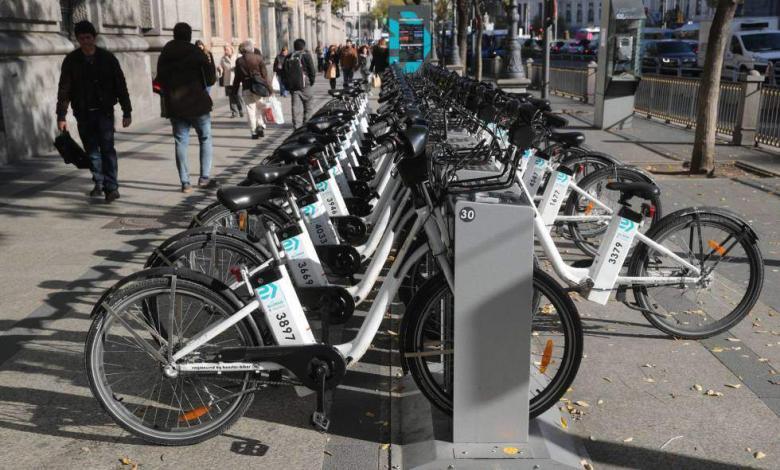
[(77, 47), (78, 21), (91, 21), (98, 45), (119, 59), (138, 123), (160, 114), (151, 81), (176, 23), (189, 23), (217, 61), (220, 46), (247, 37), (270, 61), (299, 36), (312, 49), (318, 38), (343, 38), (343, 21), (330, 15), (329, 3), (323, 10), (310, 0), (0, 0), (0, 165), (53, 151), (60, 67)]

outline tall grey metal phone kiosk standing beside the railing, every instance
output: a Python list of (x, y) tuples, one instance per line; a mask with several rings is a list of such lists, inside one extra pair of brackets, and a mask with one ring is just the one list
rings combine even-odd
[(603, 0), (593, 122), (599, 129), (631, 127), (644, 19), (642, 0)]

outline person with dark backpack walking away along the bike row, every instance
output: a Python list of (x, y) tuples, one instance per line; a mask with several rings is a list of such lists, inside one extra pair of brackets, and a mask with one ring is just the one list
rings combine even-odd
[[(296, 39), (293, 42), (293, 53), (289, 54), (284, 60), (282, 66), (282, 78), (284, 86), (290, 93), (290, 108), (292, 110), (293, 128), (297, 129), (303, 125), (311, 116), (314, 96), (311, 87), (314, 85), (314, 79), (317, 76), (317, 68), (314, 65), (314, 59), (306, 49), (306, 41)], [(303, 121), (298, 120), (296, 112), (296, 102), (300, 101), (303, 107)]]

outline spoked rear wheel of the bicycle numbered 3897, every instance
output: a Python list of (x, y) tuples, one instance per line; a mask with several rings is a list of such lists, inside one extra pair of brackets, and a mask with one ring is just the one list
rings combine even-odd
[[(167, 357), (168, 345), (177, 349), (240, 308), (214, 286), (178, 277), (174, 294), (172, 282), (169, 275), (144, 277), (110, 296), (87, 335), (86, 371), (93, 395), (117, 424), (148, 442), (189, 445), (221, 434), (246, 412), (253, 380), (248, 373), (171, 378), (163, 372), (150, 351)], [(208, 360), (221, 348), (258, 341), (245, 320), (188, 357)]]

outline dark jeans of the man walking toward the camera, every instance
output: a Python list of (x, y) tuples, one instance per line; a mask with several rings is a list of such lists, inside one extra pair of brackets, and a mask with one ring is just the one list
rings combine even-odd
[(117, 183), (116, 149), (114, 148), (114, 115), (88, 111), (77, 118), (79, 136), (84, 151), (92, 161), (92, 181), (106, 191), (114, 191)]

